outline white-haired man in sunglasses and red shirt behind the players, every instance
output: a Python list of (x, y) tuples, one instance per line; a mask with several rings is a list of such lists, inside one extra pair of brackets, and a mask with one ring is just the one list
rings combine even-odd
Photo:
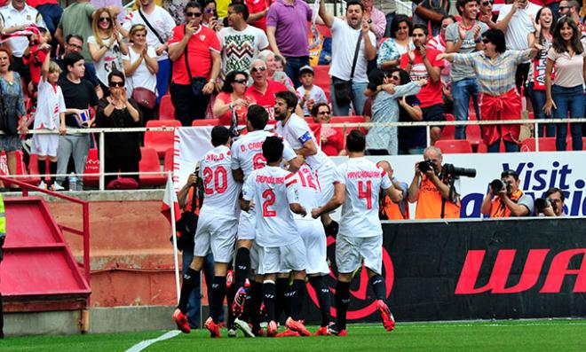
[[(269, 80), (267, 76), (265, 61), (254, 59), (250, 65), (253, 83), (246, 89), (246, 95), (254, 98), (259, 106), (263, 106), (269, 113), (269, 119), (274, 120), (274, 93), (288, 89), (283, 83)], [(299, 116), (303, 116), (303, 111)]]

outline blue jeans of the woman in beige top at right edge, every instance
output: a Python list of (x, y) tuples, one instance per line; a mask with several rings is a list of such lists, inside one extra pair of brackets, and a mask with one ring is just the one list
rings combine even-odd
[[(551, 97), (553, 102), (558, 106), (552, 111), (556, 119), (566, 119), (568, 113), (570, 118), (580, 118), (584, 116), (584, 90), (582, 85), (572, 88), (551, 87)], [(557, 123), (556, 150), (558, 152), (566, 151), (567, 123)], [(574, 151), (582, 150), (582, 123), (571, 123), (570, 132), (572, 133), (572, 149)]]

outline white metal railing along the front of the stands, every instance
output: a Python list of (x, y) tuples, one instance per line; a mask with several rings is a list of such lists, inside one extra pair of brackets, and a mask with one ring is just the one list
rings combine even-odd
[[(535, 126), (535, 131), (539, 130), (539, 126), (542, 124), (549, 124), (549, 123), (585, 123), (586, 118), (580, 119), (523, 119), (523, 120), (491, 120), (491, 121), (413, 121), (413, 122), (342, 122), (342, 123), (324, 123), (322, 124), (323, 127), (330, 127), (330, 128), (342, 128), (344, 131), (344, 137), (347, 135), (349, 129), (355, 128), (373, 128), (373, 127), (425, 127), (426, 135), (427, 135), (427, 145), (431, 145), (431, 129), (435, 126), (471, 126), (471, 125), (510, 125), (510, 124), (530, 124)], [(181, 129), (182, 127), (178, 127)], [(200, 129), (205, 127), (192, 127), (194, 129)], [(243, 126), (242, 126), (243, 128)], [(99, 173), (98, 174), (83, 174), (83, 175), (76, 175), (78, 177), (83, 176), (99, 176), (99, 190), (103, 191), (105, 189), (105, 176), (127, 176), (127, 175), (163, 175), (165, 174), (164, 170), (160, 172), (137, 172), (137, 173), (105, 173), (104, 172), (104, 160), (105, 160), (105, 134), (107, 133), (136, 133), (136, 132), (170, 132), (174, 131), (175, 127), (156, 127), (156, 128), (128, 128), (128, 129), (67, 129), (67, 134), (90, 134), (95, 133), (99, 136), (98, 140), (98, 150), (99, 150)], [(29, 130), (30, 134), (57, 134), (58, 132), (46, 129), (31, 129)], [(0, 131), (0, 134), (4, 134), (4, 132)], [(539, 137), (535, 137), (535, 152), (539, 152)], [(10, 178), (26, 178), (30, 176), (39, 176), (39, 175), (12, 175), (6, 176)], [(51, 176), (69, 176), (69, 175), (51, 175)]]

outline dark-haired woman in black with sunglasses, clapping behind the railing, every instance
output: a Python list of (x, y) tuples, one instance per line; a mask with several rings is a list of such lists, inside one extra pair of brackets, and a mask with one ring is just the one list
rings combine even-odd
[[(126, 84), (124, 74), (115, 70), (108, 74), (107, 78), (110, 94), (106, 98), (99, 99), (96, 109), (96, 126), (115, 129), (140, 127), (142, 113), (140, 113), (139, 105), (128, 98), (124, 88)], [(105, 138), (104, 170), (107, 173), (136, 172), (137, 175), (122, 177), (133, 178), (138, 185), (140, 133), (107, 133)], [(116, 178), (116, 176), (106, 176), (106, 184)]]

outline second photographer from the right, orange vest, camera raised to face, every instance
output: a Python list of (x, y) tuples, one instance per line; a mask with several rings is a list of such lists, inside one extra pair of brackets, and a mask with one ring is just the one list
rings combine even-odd
[(519, 175), (505, 170), (500, 180), (489, 184), (480, 212), (490, 217), (528, 216), (533, 214), (533, 199), (519, 190)]

